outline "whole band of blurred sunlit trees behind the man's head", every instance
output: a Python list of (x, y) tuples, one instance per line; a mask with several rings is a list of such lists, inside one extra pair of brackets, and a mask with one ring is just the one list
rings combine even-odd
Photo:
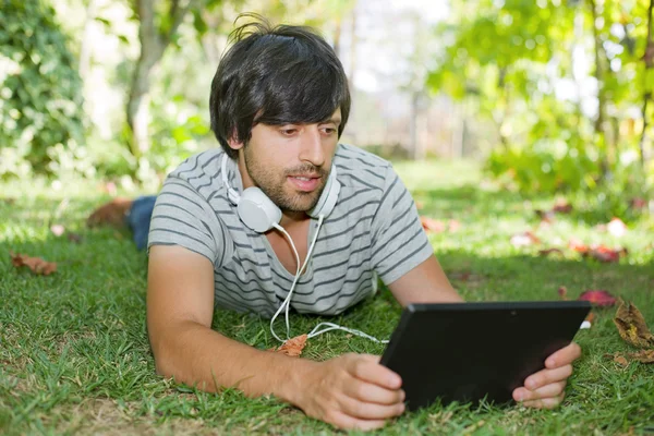
[(344, 142), (479, 159), (507, 187), (592, 192), (611, 214), (653, 196), (654, 0), (1, 1), (0, 178), (156, 189), (217, 146), (210, 80), (252, 11), (334, 45)]

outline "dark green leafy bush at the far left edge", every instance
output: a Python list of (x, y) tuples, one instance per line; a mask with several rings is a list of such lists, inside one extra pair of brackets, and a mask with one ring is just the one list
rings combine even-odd
[(40, 0), (0, 8), (0, 177), (94, 172), (82, 147), (82, 82), (53, 16)]

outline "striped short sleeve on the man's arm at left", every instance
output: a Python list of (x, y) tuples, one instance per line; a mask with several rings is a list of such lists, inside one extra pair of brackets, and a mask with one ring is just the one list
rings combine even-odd
[(211, 208), (186, 181), (168, 177), (157, 196), (148, 250), (153, 245), (180, 245), (208, 258), (217, 265), (221, 258), (219, 232)]

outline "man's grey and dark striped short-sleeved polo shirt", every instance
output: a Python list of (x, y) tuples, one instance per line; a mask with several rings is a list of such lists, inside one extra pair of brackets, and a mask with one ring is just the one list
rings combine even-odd
[[(169, 174), (153, 211), (148, 247), (181, 245), (207, 257), (217, 305), (271, 317), (294, 275), (265, 234), (239, 219), (222, 182), (223, 153), (197, 154)], [(291, 307), (299, 313), (339, 314), (374, 294), (378, 278), (391, 283), (434, 252), (413, 198), (388, 161), (339, 144), (334, 165), (341, 189), (293, 291)], [(235, 160), (228, 159), (227, 172), (241, 193)], [(312, 219), (307, 246), (316, 227)]]

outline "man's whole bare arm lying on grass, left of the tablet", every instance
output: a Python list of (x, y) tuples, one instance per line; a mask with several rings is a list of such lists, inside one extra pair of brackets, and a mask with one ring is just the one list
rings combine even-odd
[(216, 391), (271, 393), (341, 428), (377, 428), (404, 410), (400, 377), (372, 355), (326, 362), (257, 350), (211, 330), (214, 266), (181, 246), (149, 251), (147, 327), (157, 372)]

